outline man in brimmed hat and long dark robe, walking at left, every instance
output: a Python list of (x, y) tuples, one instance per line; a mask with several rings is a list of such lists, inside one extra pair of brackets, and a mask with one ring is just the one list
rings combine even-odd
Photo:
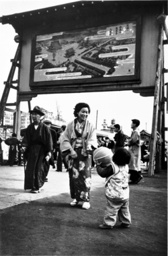
[(30, 114), (33, 123), (28, 125), (22, 141), (27, 160), (24, 189), (31, 189), (31, 193), (40, 193), (45, 179), (44, 162), (51, 157), (52, 137), (48, 126), (40, 120), (45, 115), (42, 108), (35, 106)]

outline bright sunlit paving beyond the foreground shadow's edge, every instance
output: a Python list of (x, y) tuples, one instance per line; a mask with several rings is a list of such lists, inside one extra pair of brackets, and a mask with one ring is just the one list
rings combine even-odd
[[(44, 183), (40, 193), (34, 195), (30, 193), (30, 190), (24, 190), (24, 166), (0, 166), (0, 210), (20, 203), (69, 193), (69, 173), (64, 167), (62, 167), (62, 172), (55, 170), (50, 168), (48, 182)], [(104, 184), (101, 177), (96, 175), (95, 178), (92, 190)]]

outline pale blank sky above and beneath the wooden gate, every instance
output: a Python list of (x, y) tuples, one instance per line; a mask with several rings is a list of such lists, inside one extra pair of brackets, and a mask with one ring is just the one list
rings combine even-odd
[[(58, 0), (0, 0), (0, 16), (19, 13), (24, 11), (31, 11), (33, 9), (41, 9), (63, 3), (70, 3), (75, 1), (58, 1)], [(0, 99), (3, 94), (3, 82), (7, 80), (11, 68), (10, 59), (13, 59), (17, 44), (13, 40), (15, 30), (9, 24), (0, 24), (0, 49), (1, 49), (1, 63), (0, 63)], [(168, 54), (167, 46), (165, 47), (165, 55)], [(168, 60), (165, 58), (165, 68), (168, 69)], [(16, 78), (15, 78), (16, 79)], [(165, 82), (168, 82), (168, 76), (165, 76)], [(16, 94), (11, 90), (7, 102), (15, 102)], [(39, 95), (32, 99), (32, 108), (38, 105), (46, 110), (53, 112), (56, 115), (56, 104), (58, 104), (61, 111), (62, 118), (65, 121), (71, 121), (73, 117), (73, 108), (78, 102), (87, 102), (91, 107), (91, 114), (89, 120), (96, 124), (97, 129), (102, 129), (103, 119), (106, 119), (108, 125), (111, 120), (115, 119), (116, 123), (122, 125), (122, 129), (127, 135), (130, 135), (131, 119), (140, 120), (140, 131), (146, 129), (151, 133), (152, 119), (153, 119), (153, 97), (142, 97), (132, 91), (124, 92), (93, 92), (81, 94), (46, 94)], [(28, 103), (22, 102), (21, 110), (28, 112)], [(98, 113), (98, 115), (97, 115)], [(168, 123), (166, 123), (168, 126)], [(167, 136), (167, 134), (166, 134)]]

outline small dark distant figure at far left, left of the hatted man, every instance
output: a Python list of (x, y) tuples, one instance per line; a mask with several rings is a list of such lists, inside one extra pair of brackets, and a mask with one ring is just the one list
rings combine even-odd
[(15, 133), (12, 133), (11, 137), (5, 140), (5, 143), (9, 146), (9, 166), (13, 166), (16, 161), (19, 139)]

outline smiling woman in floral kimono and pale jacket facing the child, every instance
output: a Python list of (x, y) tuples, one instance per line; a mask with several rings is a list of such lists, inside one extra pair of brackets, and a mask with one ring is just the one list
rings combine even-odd
[(75, 106), (75, 119), (67, 125), (60, 143), (62, 156), (69, 154), (69, 181), (71, 206), (79, 201), (83, 202), (82, 208), (90, 207), (91, 189), (91, 153), (97, 148), (95, 128), (87, 120), (90, 107), (86, 103)]

